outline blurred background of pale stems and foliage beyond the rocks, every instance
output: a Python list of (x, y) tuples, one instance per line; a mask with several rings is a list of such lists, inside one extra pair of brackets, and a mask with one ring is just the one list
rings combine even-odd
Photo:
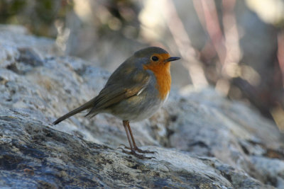
[(54, 38), (63, 55), (108, 71), (163, 47), (182, 57), (173, 88), (213, 86), (284, 132), (284, 0), (1, 0), (0, 23)]

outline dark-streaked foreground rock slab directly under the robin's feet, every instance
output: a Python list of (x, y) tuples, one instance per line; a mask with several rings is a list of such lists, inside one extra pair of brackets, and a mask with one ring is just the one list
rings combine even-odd
[[(141, 160), (59, 132), (16, 110), (1, 110), (1, 187), (258, 188), (261, 183), (217, 159), (160, 147)], [(241, 178), (241, 179), (240, 179)], [(235, 183), (236, 182), (236, 183)]]

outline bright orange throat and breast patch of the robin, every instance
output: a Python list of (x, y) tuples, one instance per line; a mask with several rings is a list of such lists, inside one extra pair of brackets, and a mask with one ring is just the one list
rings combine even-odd
[(170, 84), (172, 79), (170, 77), (170, 62), (164, 64), (146, 64), (143, 66), (144, 69), (150, 69), (153, 71), (155, 78), (157, 79), (156, 88), (159, 91), (160, 98), (164, 100), (170, 92)]

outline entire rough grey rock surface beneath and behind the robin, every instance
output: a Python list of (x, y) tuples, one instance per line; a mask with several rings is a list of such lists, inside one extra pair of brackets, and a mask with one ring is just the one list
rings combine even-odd
[(212, 88), (171, 91), (131, 123), (138, 145), (158, 152), (136, 159), (111, 115), (51, 125), (99, 93), (107, 71), (18, 26), (1, 25), (0, 46), (1, 188), (283, 188), (283, 134), (249, 105)]

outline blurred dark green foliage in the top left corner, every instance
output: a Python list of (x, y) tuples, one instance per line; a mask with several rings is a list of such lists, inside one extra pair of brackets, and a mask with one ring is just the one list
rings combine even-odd
[(65, 20), (72, 1), (1, 0), (0, 23), (25, 25), (35, 35), (56, 38), (55, 21)]

